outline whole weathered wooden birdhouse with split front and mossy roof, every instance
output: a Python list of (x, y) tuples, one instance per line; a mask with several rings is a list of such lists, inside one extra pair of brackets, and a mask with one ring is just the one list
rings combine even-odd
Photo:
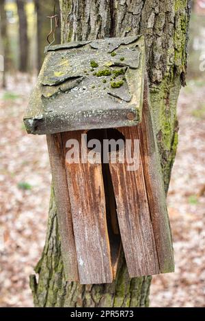
[[(24, 118), (46, 135), (68, 281), (172, 272), (143, 36), (50, 46)], [(102, 147), (103, 145), (103, 147)]]

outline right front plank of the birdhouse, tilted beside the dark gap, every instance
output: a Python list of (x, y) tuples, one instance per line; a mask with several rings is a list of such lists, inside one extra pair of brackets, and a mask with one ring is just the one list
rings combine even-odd
[[(118, 128), (125, 139), (138, 139), (136, 127)], [(133, 145), (132, 145), (133, 152)], [(141, 155), (139, 169), (125, 163), (109, 163), (117, 203), (120, 234), (130, 277), (159, 273), (159, 263), (150, 220)]]

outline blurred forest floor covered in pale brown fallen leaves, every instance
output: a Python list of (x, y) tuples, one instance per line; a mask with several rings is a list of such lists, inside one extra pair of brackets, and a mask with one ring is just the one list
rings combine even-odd
[[(27, 135), (34, 79), (0, 93), (0, 307), (32, 307), (29, 275), (46, 234), (51, 174), (45, 137)], [(189, 81), (178, 103), (180, 138), (167, 204), (176, 272), (153, 277), (151, 307), (205, 307), (205, 85)]]

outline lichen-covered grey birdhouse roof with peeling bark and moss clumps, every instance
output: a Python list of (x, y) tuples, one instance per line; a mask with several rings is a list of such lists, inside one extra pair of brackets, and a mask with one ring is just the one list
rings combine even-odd
[(27, 132), (137, 125), (145, 64), (143, 36), (51, 46), (24, 117)]

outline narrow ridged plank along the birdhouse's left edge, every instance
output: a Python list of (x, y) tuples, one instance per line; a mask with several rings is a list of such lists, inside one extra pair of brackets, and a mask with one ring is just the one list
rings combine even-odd
[(61, 235), (61, 253), (67, 281), (79, 281), (77, 255), (72, 228), (72, 216), (68, 195), (65, 157), (60, 134), (47, 135), (49, 158), (53, 177), (57, 221)]

